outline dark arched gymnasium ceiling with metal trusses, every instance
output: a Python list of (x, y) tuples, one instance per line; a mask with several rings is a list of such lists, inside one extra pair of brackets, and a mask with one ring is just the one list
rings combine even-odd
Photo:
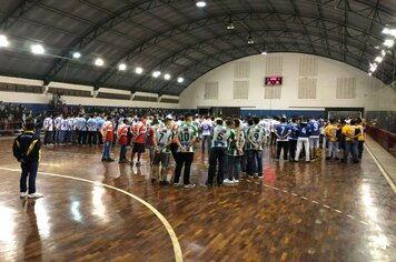
[[(227, 30), (229, 20), (234, 30)], [(229, 61), (268, 52), (300, 52), (368, 71), (396, 27), (394, 0), (2, 0), (0, 73), (131, 91), (179, 94)], [(251, 36), (255, 43), (247, 44)], [(29, 53), (40, 42), (46, 56)], [(71, 58), (79, 51), (79, 60)], [(92, 61), (100, 57), (102, 68)], [(127, 71), (118, 71), (125, 62)], [(374, 77), (395, 80), (394, 50)], [(133, 72), (142, 67), (145, 73)], [(155, 70), (172, 80), (155, 79)], [(177, 83), (184, 77), (184, 83)]]

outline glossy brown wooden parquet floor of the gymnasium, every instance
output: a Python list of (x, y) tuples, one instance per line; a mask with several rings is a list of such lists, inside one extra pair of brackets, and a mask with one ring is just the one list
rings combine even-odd
[[(196, 189), (152, 185), (140, 169), (100, 162), (100, 148), (43, 149), (38, 190), (19, 199), (11, 141), (0, 141), (0, 261), (175, 261), (156, 208), (185, 261), (396, 261), (396, 198), (365, 152), (360, 164), (275, 162), (264, 179), (205, 188), (207, 155), (192, 165)], [(118, 149), (116, 149), (118, 152)], [(91, 184), (63, 174), (99, 182)]]

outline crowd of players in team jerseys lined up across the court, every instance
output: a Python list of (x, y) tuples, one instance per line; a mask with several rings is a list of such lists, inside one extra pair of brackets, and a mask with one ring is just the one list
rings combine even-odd
[[(101, 161), (115, 161), (111, 148), (119, 144), (118, 162), (141, 165), (141, 155), (148, 151), (151, 181), (194, 188), (190, 168), (200, 143), (201, 153), (208, 152), (207, 185), (235, 184), (239, 175), (263, 178), (263, 153), (266, 147), (276, 147), (277, 161), (310, 162), (318, 159), (323, 148), (327, 160), (358, 163), (365, 141), (364, 119), (258, 118), (130, 114), (123, 111), (77, 115), (49, 114), (42, 124), (36, 121), (37, 134), (44, 130), (47, 147), (103, 144)], [(200, 141), (200, 142), (199, 142)], [(325, 147), (320, 147), (325, 144)], [(128, 160), (128, 148), (131, 148)], [(170, 157), (175, 160), (170, 172)]]

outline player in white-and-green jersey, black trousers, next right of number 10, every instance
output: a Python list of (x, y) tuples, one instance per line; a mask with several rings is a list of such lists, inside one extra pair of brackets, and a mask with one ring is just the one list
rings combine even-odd
[[(228, 125), (228, 127), (227, 127)], [(212, 187), (217, 172), (217, 187), (220, 187), (224, 181), (225, 162), (227, 158), (228, 139), (231, 137), (231, 130), (234, 123), (231, 120), (227, 120), (227, 125), (224, 124), (222, 119), (216, 120), (216, 127), (214, 128), (211, 138), (211, 148), (209, 151), (209, 170), (207, 185)]]

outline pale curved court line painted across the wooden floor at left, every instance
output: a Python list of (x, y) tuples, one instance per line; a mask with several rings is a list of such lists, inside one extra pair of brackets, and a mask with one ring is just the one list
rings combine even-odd
[[(21, 172), (21, 170), (19, 169), (10, 169), (10, 168), (2, 168), (0, 167), (0, 170), (4, 170), (4, 171), (11, 171), (11, 172)], [(112, 187), (112, 185), (108, 185), (108, 184), (103, 184), (97, 181), (92, 181), (92, 180), (88, 180), (88, 179), (80, 179), (80, 178), (76, 178), (76, 177), (70, 177), (70, 175), (65, 175), (65, 174), (57, 174), (57, 173), (49, 173), (49, 172), (38, 172), (39, 174), (44, 174), (48, 177), (56, 177), (56, 178), (62, 178), (62, 179), (71, 179), (71, 180), (77, 180), (77, 181), (82, 181), (86, 183), (90, 183), (90, 184), (95, 184), (95, 185), (101, 185), (108, 189), (112, 189), (116, 190), (118, 192), (121, 192), (123, 194), (127, 194), (128, 196), (139, 201), (141, 204), (143, 204), (146, 208), (148, 208), (164, 224), (165, 229), (167, 230), (170, 240), (172, 242), (174, 245), (174, 253), (175, 253), (175, 261), (176, 262), (182, 262), (182, 252), (181, 252), (181, 248), (180, 248), (180, 243), (179, 240), (175, 233), (175, 230), (172, 229), (172, 226), (170, 225), (170, 223), (168, 222), (168, 220), (156, 209), (154, 208), (151, 204), (149, 204), (148, 202), (146, 202), (145, 200), (140, 199), (139, 196), (129, 193), (122, 189)]]

